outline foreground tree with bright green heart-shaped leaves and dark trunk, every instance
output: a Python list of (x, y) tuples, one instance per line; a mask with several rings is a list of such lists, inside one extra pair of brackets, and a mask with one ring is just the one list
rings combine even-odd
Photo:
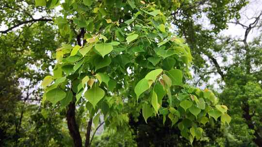
[[(141, 109), (146, 122), (161, 115), (165, 123), (167, 116), (171, 127), (178, 126), (191, 144), (202, 136), (201, 123), (221, 117), (229, 124), (228, 108), (217, 104), (213, 92), (185, 84), (190, 77), (190, 49), (169, 31), (170, 21), (164, 15), (176, 11), (179, 1), (172, 1), (171, 7), (168, 0), (62, 4), (36, 0), (35, 4), (63, 8), (63, 16), (54, 22), (68, 42), (56, 50), (53, 75), (42, 82), (42, 102), (67, 109), (75, 147), (82, 147), (76, 105), (86, 107), (89, 115), (85, 147), (90, 146), (92, 122), (98, 126), (100, 115), (110, 128), (125, 124), (130, 113), (139, 116)], [(124, 105), (132, 105), (133, 111), (125, 111)]]

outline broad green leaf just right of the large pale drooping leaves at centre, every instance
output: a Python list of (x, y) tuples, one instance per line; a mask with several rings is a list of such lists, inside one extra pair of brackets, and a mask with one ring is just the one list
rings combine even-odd
[(173, 69), (173, 70), (168, 71), (166, 74), (171, 78), (172, 85), (182, 86), (183, 74), (180, 70)]

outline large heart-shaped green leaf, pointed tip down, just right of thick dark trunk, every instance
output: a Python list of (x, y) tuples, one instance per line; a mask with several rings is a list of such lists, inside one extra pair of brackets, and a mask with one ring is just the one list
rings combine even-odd
[(84, 93), (85, 98), (92, 103), (94, 109), (97, 103), (104, 97), (105, 91), (98, 86), (94, 86), (91, 89), (87, 89)]

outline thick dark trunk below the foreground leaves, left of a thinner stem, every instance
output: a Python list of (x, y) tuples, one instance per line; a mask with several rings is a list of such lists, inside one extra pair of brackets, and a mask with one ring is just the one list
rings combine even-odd
[(70, 136), (73, 138), (74, 146), (82, 147), (82, 138), (79, 132), (79, 127), (76, 123), (75, 109), (75, 103), (70, 102), (70, 104), (68, 105), (68, 110), (66, 112), (67, 126)]

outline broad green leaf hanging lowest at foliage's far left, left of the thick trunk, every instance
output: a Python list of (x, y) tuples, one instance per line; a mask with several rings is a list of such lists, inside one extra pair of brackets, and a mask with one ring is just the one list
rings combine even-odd
[(63, 100), (66, 97), (66, 92), (59, 88), (55, 88), (48, 91), (46, 97), (48, 101), (55, 105), (57, 102)]

